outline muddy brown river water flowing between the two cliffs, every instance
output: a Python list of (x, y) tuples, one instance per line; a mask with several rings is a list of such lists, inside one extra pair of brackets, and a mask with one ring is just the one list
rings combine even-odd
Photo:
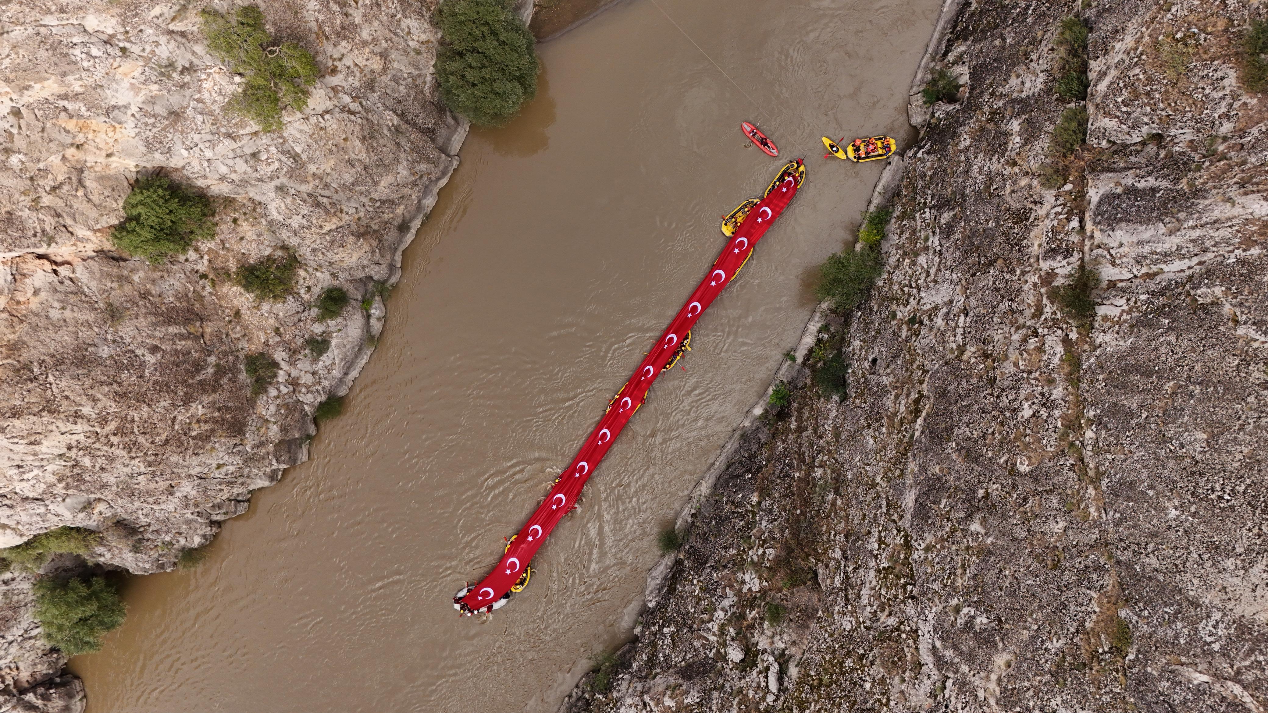
[[(662, 14), (663, 8), (746, 95)], [(193, 571), (126, 586), (72, 661), (90, 713), (553, 710), (630, 634), (654, 538), (762, 393), (881, 166), (819, 137), (904, 141), (937, 0), (629, 0), (539, 47), (541, 93), (462, 166), (406, 250), (378, 350), (313, 457)], [(482, 577), (781, 161), (808, 180), (489, 620)]]

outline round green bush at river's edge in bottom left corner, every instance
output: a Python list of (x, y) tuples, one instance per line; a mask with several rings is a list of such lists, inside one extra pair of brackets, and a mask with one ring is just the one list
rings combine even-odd
[(42, 579), (36, 582), (34, 594), (34, 615), (44, 641), (67, 656), (100, 650), (101, 636), (118, 628), (127, 615), (119, 592), (103, 577)]

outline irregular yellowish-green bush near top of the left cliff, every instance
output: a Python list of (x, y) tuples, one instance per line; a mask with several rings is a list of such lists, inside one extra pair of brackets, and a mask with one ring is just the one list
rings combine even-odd
[(281, 128), (281, 109), (308, 107), (308, 88), (321, 71), (317, 61), (294, 42), (274, 43), (264, 27), (264, 13), (243, 5), (228, 15), (204, 8), (202, 19), (207, 51), (236, 74), (242, 89), (224, 108), (247, 118), (264, 131)]

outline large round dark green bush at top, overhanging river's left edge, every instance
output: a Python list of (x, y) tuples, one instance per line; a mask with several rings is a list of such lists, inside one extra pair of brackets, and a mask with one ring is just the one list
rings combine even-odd
[(440, 95), (472, 123), (500, 126), (538, 91), (533, 33), (508, 0), (445, 0), (436, 11)]

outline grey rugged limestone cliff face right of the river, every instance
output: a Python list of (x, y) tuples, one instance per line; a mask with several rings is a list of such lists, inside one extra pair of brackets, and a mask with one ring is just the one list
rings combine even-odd
[[(747, 431), (573, 710), (1268, 709), (1268, 137), (1236, 0), (948, 0), (850, 392)], [(1090, 24), (1089, 141), (1063, 16)], [(1179, 47), (1179, 49), (1177, 49)], [(812, 178), (813, 180), (813, 178)], [(1049, 183), (1051, 185), (1051, 183)], [(1055, 304), (1082, 264), (1090, 327)], [(804, 353), (804, 351), (803, 351)]]

